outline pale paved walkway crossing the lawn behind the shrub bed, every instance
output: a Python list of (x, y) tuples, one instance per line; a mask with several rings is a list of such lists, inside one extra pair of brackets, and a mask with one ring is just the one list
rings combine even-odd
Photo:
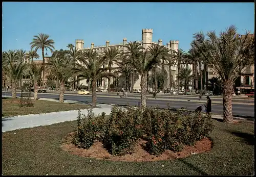
[[(52, 100), (58, 102), (58, 100), (50, 98), (40, 98), (40, 100)], [(75, 101), (65, 100), (66, 103), (77, 103)], [(95, 114), (101, 114), (105, 112), (106, 115), (110, 115), (112, 105), (97, 104), (100, 108), (94, 108), (93, 112)], [(82, 114), (87, 115), (88, 109), (81, 110)], [(54, 123), (60, 123), (65, 121), (73, 121), (77, 119), (78, 111), (62, 111), (62, 112), (52, 112), (45, 114), (31, 114), (24, 116), (13, 116), (2, 119), (2, 132), (13, 131), (17, 129), (33, 128), (44, 125), (50, 125)], [(212, 118), (223, 119), (223, 116), (212, 115)], [(235, 118), (235, 117), (234, 117)], [(247, 120), (246, 118), (237, 118), (240, 120)], [(251, 119), (250, 119), (251, 120)], [(254, 121), (254, 119), (253, 119)]]

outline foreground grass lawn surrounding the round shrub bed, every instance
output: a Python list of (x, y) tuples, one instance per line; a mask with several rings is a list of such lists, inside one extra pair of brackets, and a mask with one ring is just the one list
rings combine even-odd
[(254, 124), (214, 123), (211, 151), (159, 162), (111, 162), (71, 155), (60, 144), (76, 121), (16, 130), (2, 134), (2, 170), (4, 175), (252, 175)]

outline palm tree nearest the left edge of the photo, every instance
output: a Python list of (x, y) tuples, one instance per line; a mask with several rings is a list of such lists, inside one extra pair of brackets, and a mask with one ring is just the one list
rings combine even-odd
[(8, 50), (3, 54), (3, 69), (11, 81), (12, 98), (16, 98), (17, 83), (22, 79), (26, 68), (19, 57), (19, 54), (15, 50)]

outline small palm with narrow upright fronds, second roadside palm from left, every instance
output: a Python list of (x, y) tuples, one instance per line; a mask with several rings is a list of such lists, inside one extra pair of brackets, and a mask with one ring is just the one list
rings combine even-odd
[(37, 65), (35, 63), (28, 63), (27, 69), (29, 72), (29, 75), (31, 76), (31, 79), (34, 83), (34, 100), (37, 100), (37, 93), (38, 93), (38, 81), (41, 78), (41, 73), (43, 67), (41, 65)]

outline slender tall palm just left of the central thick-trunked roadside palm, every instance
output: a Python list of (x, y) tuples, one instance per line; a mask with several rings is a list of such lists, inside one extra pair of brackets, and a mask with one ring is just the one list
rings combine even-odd
[(128, 49), (128, 55), (129, 55), (129, 61), (132, 64), (133, 71), (132, 71), (132, 82), (131, 82), (131, 92), (133, 93), (134, 88), (134, 77), (135, 77), (135, 67), (134, 67), (134, 61), (136, 60), (136, 56), (138, 56), (138, 53), (143, 49), (143, 47), (137, 42), (129, 42), (129, 45), (127, 46)]

